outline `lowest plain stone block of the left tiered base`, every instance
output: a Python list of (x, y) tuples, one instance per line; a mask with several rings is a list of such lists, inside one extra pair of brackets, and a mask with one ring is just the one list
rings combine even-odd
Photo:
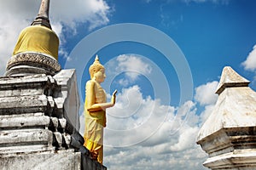
[(79, 170), (81, 169), (81, 154), (74, 150), (44, 151), (16, 156), (2, 156), (2, 170)]

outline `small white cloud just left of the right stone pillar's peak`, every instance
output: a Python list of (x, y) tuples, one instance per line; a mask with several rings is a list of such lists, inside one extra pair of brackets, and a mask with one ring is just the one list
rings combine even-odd
[(195, 88), (195, 100), (200, 103), (200, 105), (212, 105), (218, 99), (218, 95), (215, 94), (216, 88), (218, 87), (218, 82), (207, 82), (197, 88)]

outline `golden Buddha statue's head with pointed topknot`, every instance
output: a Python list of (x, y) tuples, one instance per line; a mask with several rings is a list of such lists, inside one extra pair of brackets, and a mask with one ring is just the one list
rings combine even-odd
[(106, 78), (105, 68), (100, 63), (100, 60), (97, 55), (93, 64), (90, 65), (89, 72), (90, 72), (90, 79), (94, 79), (96, 80), (96, 82), (104, 82), (104, 79)]

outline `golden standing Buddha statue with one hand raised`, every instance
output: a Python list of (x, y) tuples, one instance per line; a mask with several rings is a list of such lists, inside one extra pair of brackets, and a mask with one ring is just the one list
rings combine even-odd
[(85, 130), (84, 146), (90, 150), (90, 156), (102, 164), (103, 161), (103, 127), (106, 127), (106, 109), (115, 104), (115, 90), (111, 101), (107, 103), (107, 96), (101, 83), (104, 82), (105, 68), (98, 56), (89, 68), (90, 80), (85, 86)]

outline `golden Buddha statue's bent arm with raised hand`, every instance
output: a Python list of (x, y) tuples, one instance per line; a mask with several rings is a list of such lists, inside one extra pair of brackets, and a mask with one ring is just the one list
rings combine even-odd
[[(88, 90), (86, 91), (86, 108), (87, 111), (105, 111), (107, 108), (112, 107), (115, 104), (115, 94), (114, 97), (112, 96), (111, 102), (109, 103), (100, 103), (96, 104), (95, 103), (95, 82), (91, 82)], [(114, 99), (113, 99), (114, 98)]]

